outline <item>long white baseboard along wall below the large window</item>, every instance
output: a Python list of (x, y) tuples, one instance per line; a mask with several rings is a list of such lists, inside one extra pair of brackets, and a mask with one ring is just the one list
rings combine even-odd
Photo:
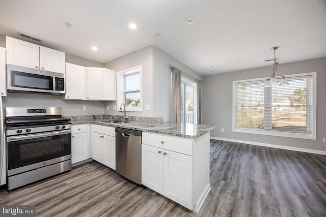
[(221, 137), (214, 137), (214, 136), (211, 136), (210, 138), (216, 139), (216, 140), (228, 141), (228, 142), (238, 142), (238, 143), (244, 143), (244, 144), (250, 144), (250, 145), (259, 145), (259, 146), (265, 146), (265, 147), (271, 147), (271, 148), (280, 148), (280, 149), (286, 149), (286, 150), (302, 151), (302, 152), (326, 155), (326, 151), (320, 151), (320, 150), (314, 150), (314, 149), (298, 148), (298, 147), (285, 146), (285, 145), (274, 145), (274, 144), (268, 144), (268, 143), (262, 143), (262, 142), (243, 141), (243, 140), (228, 139), (228, 138), (221, 138)]

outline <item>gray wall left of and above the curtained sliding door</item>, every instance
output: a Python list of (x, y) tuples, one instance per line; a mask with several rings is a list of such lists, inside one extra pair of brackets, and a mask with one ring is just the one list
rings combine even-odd
[(164, 121), (171, 120), (171, 70), (170, 65), (199, 80), (203, 76), (182, 64), (179, 60), (153, 46), (153, 112), (154, 116), (163, 116)]

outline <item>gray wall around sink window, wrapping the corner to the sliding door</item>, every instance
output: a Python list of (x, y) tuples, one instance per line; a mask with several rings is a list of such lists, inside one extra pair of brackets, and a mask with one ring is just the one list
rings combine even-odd
[[(193, 69), (182, 64), (180, 61), (170, 56), (166, 52), (155, 46), (132, 52), (104, 65), (105, 68), (118, 71), (131, 67), (143, 66), (143, 112), (128, 112), (132, 116), (158, 117), (163, 116), (164, 121), (170, 121), (170, 85), (171, 70), (169, 65), (180, 69), (200, 80), (202, 75)], [(113, 110), (117, 102), (105, 103), (105, 114), (121, 115), (120, 112)], [(145, 105), (150, 105), (150, 111), (145, 111)], [(106, 110), (110, 106), (110, 110)], [(117, 106), (119, 108), (120, 105)]]

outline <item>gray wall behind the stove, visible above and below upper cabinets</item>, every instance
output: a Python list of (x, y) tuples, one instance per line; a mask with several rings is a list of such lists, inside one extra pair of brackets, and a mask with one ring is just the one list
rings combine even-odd
[[(0, 46), (6, 47), (6, 36), (0, 35)], [(103, 67), (103, 64), (66, 53), (68, 63), (85, 67)], [(103, 114), (104, 102), (63, 100), (62, 96), (39, 95), (39, 94), (19, 94), (8, 92), (3, 98), (3, 107), (23, 107), (23, 106), (57, 106), (62, 107), (63, 115), (90, 115)], [(83, 111), (86, 106), (86, 111)]]

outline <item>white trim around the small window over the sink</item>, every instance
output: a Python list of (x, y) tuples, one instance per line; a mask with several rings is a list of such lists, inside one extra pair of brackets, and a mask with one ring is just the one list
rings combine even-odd
[(117, 72), (117, 111), (119, 111), (120, 105), (124, 103), (125, 93), (125, 75), (131, 75), (139, 72), (139, 92), (140, 92), (140, 106), (139, 107), (126, 107), (126, 111), (142, 112), (143, 111), (143, 95), (142, 95), (142, 65), (131, 67), (129, 69), (121, 70)]

